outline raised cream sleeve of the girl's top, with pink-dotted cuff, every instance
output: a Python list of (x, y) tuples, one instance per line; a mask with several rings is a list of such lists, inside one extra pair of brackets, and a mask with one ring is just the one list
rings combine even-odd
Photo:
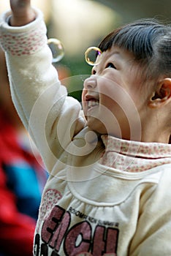
[(80, 103), (67, 97), (66, 88), (58, 80), (42, 12), (35, 12), (36, 20), (20, 27), (9, 26), (10, 13), (5, 13), (0, 40), (15, 108), (50, 171), (85, 121), (80, 117)]

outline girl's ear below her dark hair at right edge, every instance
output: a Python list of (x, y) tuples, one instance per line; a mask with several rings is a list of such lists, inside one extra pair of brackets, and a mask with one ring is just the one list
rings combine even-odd
[(157, 91), (154, 91), (148, 102), (150, 108), (159, 108), (171, 101), (171, 78), (159, 81)]

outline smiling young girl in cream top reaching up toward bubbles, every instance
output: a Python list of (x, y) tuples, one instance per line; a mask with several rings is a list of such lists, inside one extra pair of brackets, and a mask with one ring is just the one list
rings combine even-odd
[(83, 115), (51, 64), (42, 14), (10, 2), (12, 98), (50, 173), (34, 255), (171, 255), (170, 27), (142, 20), (102, 40)]

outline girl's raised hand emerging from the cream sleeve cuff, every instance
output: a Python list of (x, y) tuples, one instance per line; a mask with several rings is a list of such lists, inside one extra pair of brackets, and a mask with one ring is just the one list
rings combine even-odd
[(24, 26), (35, 19), (31, 0), (10, 0), (12, 16), (9, 20), (11, 26)]

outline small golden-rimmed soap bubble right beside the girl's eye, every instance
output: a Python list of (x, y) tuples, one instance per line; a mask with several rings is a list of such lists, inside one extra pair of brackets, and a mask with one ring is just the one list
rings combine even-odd
[(97, 58), (98, 56), (100, 56), (102, 54), (102, 50), (100, 50), (97, 47), (89, 47), (86, 52), (85, 52), (85, 59), (86, 62), (91, 65), (91, 66), (95, 66), (99, 64), (100, 59)]

